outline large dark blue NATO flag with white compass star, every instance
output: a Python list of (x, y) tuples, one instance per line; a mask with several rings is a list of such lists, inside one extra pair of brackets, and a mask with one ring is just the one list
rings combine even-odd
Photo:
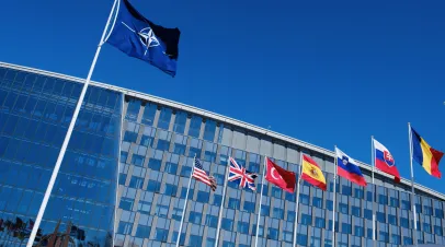
[(128, 56), (147, 61), (174, 77), (181, 32), (150, 22), (128, 0), (119, 0), (117, 10), (106, 42)]

